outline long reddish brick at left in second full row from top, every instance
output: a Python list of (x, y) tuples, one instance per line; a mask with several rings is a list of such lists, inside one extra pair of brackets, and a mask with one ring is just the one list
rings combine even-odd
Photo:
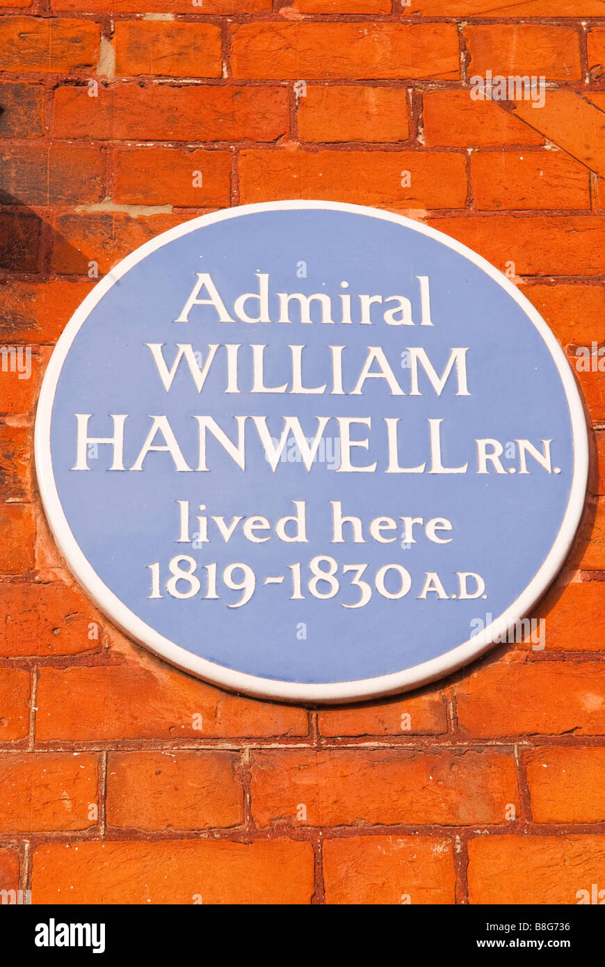
[[(188, 24), (187, 24), (188, 26)], [(172, 87), (121, 84), (55, 91), (53, 133), (57, 137), (146, 141), (274, 141), (290, 128), (283, 87)]]

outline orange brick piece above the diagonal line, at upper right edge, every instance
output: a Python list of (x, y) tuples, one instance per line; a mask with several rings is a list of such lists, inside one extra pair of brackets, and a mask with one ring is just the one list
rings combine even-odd
[(514, 111), (572, 158), (605, 175), (605, 113), (594, 104), (573, 91), (547, 90), (543, 107), (517, 101)]

